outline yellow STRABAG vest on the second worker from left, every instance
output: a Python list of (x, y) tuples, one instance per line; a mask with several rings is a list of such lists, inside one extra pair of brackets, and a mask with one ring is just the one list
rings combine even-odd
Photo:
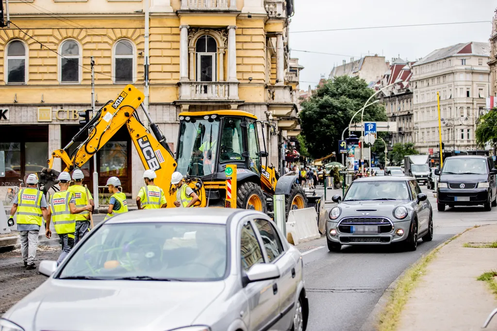
[(50, 200), (52, 221), (58, 234), (74, 234), (76, 232), (76, 217), (71, 214), (71, 209), (69, 209), (69, 201), (73, 195), (74, 193), (69, 191), (56, 192)]

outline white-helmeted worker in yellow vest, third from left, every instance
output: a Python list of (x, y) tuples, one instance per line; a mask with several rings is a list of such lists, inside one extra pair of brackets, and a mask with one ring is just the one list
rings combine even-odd
[[(94, 203), (93, 203), (93, 198), (91, 197), (91, 194), (89, 193), (88, 189), (85, 189), (83, 186), (83, 171), (80, 169), (76, 169), (73, 171), (73, 180), (75, 182), (75, 185), (70, 186), (68, 189), (68, 192), (74, 193), (74, 197), (76, 198), (76, 207), (84, 207), (87, 204), (90, 204), (91, 207), (93, 208)], [(88, 196), (86, 196), (86, 193), (88, 193)], [(93, 209), (91, 209), (93, 211)], [(78, 244), (81, 238), (88, 233), (90, 230), (90, 214), (89, 211), (83, 210), (79, 214), (76, 214), (76, 232), (74, 234), (74, 244)]]

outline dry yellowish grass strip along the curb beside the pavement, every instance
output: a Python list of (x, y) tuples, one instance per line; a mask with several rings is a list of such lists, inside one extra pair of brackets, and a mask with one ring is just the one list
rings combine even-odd
[(395, 331), (399, 323), (402, 310), (406, 305), (409, 294), (416, 287), (419, 278), (425, 273), (426, 266), (436, 257), (436, 254), (448, 243), (460, 237), (463, 233), (478, 228), (475, 225), (472, 228), (466, 229), (463, 232), (455, 235), (447, 240), (445, 243), (439, 245), (433, 251), (423, 256), (412, 267), (406, 270), (404, 275), (397, 281), (395, 288), (392, 291), (390, 299), (388, 300), (383, 312), (380, 314), (378, 331)]

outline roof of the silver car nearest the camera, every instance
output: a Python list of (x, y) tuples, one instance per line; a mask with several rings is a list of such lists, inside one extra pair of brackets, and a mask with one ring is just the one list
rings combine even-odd
[[(139, 222), (157, 222), (157, 223), (210, 223), (226, 224), (232, 216), (237, 214), (243, 217), (246, 214), (261, 214), (255, 210), (238, 209), (238, 208), (160, 208), (160, 209), (142, 209), (133, 210), (119, 214), (107, 220), (107, 224), (117, 223), (139, 223)], [(238, 215), (240, 214), (240, 215)]]

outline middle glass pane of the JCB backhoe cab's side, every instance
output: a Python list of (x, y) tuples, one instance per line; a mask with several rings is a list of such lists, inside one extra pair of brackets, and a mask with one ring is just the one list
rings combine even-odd
[(221, 162), (245, 161), (245, 157), (242, 156), (244, 144), (241, 123), (242, 120), (238, 118), (227, 117), (224, 119), (219, 157)]

